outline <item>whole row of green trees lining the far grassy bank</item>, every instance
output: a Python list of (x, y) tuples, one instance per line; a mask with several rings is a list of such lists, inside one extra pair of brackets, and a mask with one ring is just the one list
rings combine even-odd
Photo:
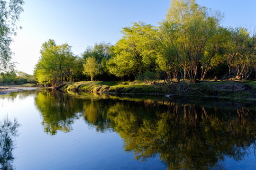
[(112, 45), (95, 43), (75, 56), (67, 43), (43, 43), (35, 67), (39, 83), (62, 81), (256, 79), (256, 31), (223, 27), (218, 11), (195, 0), (171, 0), (159, 26), (143, 22), (122, 28)]

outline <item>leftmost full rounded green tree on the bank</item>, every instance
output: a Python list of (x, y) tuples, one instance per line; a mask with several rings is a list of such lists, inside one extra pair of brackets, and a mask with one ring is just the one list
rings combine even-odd
[(40, 53), (41, 57), (34, 71), (39, 83), (56, 85), (64, 80), (72, 80), (72, 69), (77, 57), (73, 55), (70, 45), (56, 45), (54, 40), (49, 39), (43, 43)]

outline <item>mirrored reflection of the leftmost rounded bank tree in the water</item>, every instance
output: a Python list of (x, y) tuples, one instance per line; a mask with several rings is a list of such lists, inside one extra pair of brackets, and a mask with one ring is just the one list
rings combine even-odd
[(78, 119), (82, 112), (82, 101), (60, 91), (46, 89), (38, 92), (35, 102), (42, 115), (45, 132), (50, 135), (72, 130), (73, 120)]

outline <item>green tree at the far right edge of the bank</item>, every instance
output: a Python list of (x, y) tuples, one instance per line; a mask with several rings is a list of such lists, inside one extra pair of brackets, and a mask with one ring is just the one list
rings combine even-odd
[(229, 78), (247, 79), (255, 70), (255, 34), (247, 28), (230, 28), (225, 60), (229, 66)]

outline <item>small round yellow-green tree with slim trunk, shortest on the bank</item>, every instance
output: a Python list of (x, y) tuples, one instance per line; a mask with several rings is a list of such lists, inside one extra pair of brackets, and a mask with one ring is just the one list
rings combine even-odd
[(92, 81), (93, 77), (97, 73), (98, 67), (99, 64), (97, 63), (96, 59), (94, 57), (89, 57), (83, 64), (83, 74), (90, 76)]

